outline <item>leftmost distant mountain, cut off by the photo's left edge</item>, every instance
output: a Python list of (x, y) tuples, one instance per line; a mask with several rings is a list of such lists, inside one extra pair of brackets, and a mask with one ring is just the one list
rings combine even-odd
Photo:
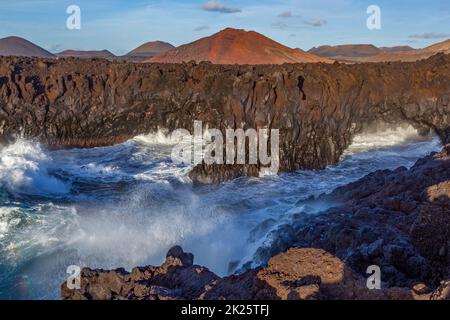
[(47, 50), (20, 37), (0, 39), (0, 56), (55, 58)]

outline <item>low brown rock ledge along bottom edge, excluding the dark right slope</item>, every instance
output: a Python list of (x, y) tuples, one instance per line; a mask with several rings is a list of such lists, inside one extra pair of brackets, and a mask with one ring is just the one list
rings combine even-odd
[[(425, 288), (425, 289), (424, 289)], [(81, 272), (81, 289), (64, 283), (66, 300), (310, 300), (310, 299), (448, 299), (450, 282), (434, 291), (415, 289), (369, 290), (366, 279), (339, 258), (321, 249), (293, 248), (270, 259), (268, 266), (220, 278), (193, 264), (192, 254), (172, 248), (160, 267), (138, 267), (131, 272)]]

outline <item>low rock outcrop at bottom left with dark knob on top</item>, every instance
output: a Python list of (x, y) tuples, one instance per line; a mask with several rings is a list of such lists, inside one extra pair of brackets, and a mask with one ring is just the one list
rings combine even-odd
[(194, 299), (219, 277), (193, 262), (192, 254), (174, 247), (160, 267), (137, 267), (131, 273), (123, 269), (85, 268), (81, 272), (81, 289), (71, 290), (64, 283), (61, 295), (72, 300)]

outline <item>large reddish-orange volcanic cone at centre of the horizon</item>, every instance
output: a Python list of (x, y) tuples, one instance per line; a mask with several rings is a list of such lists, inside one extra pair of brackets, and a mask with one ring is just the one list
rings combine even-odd
[(255, 31), (227, 28), (182, 45), (145, 62), (181, 63), (195, 60), (214, 64), (283, 64), (332, 61), (288, 48)]

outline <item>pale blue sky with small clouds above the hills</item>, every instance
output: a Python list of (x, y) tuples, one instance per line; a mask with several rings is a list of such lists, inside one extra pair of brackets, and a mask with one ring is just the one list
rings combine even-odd
[[(81, 8), (81, 30), (66, 28), (72, 4)], [(366, 27), (372, 4), (381, 8), (381, 30)], [(146, 41), (180, 45), (226, 27), (306, 50), (345, 43), (424, 47), (450, 38), (450, 1), (0, 0), (0, 38), (21, 36), (52, 52), (124, 54)]]

